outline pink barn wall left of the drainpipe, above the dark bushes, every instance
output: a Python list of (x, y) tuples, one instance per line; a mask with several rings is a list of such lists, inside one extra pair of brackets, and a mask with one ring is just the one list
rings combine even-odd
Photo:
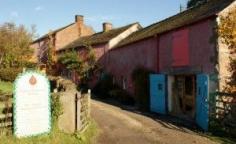
[(132, 72), (137, 67), (157, 70), (157, 40), (150, 38), (121, 48), (113, 49), (108, 53), (108, 63), (105, 66), (116, 83), (122, 86), (122, 79), (126, 79), (127, 90), (133, 93)]

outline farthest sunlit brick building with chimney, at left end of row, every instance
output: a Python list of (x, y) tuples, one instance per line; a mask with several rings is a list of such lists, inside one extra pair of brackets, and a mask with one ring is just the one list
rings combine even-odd
[(52, 46), (53, 56), (56, 58), (56, 52), (61, 48), (77, 38), (92, 34), (94, 34), (94, 30), (84, 23), (84, 17), (76, 15), (75, 22), (36, 39), (31, 47), (35, 49), (35, 57), (37, 57), (38, 62), (46, 63), (48, 60), (47, 52), (49, 45)]

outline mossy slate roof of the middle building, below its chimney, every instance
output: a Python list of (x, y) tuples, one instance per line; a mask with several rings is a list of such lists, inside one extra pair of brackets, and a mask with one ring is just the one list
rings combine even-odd
[[(66, 49), (72, 49), (72, 48), (78, 48), (78, 47), (83, 47), (85, 45), (96, 45), (96, 44), (104, 44), (109, 42), (111, 39), (115, 38), (122, 32), (126, 31), (129, 29), (131, 26), (138, 24), (139, 23), (133, 23), (129, 24), (127, 26), (123, 26), (120, 28), (114, 28), (112, 30), (109, 30), (107, 32), (99, 32), (95, 33), (90, 36), (85, 36), (85, 37), (80, 37), (77, 40), (73, 41), (72, 43), (68, 44), (64, 48), (60, 50), (66, 50)], [(141, 26), (140, 26), (141, 27)]]

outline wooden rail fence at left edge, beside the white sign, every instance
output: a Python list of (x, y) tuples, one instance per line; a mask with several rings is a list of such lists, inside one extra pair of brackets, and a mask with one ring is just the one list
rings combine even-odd
[(12, 120), (12, 95), (0, 95), (0, 133), (11, 133)]

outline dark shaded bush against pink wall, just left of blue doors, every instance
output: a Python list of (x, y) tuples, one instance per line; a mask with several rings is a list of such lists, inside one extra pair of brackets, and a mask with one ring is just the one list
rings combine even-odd
[(141, 110), (149, 111), (149, 74), (152, 72), (146, 68), (137, 68), (132, 72), (134, 91), (137, 96), (137, 103)]

